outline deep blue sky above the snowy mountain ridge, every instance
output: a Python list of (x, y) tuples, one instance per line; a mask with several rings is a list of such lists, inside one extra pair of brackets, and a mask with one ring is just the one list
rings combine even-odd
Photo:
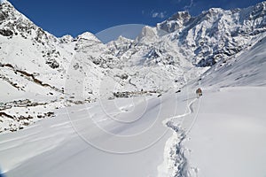
[(56, 36), (93, 34), (124, 24), (156, 23), (178, 11), (198, 15), (211, 7), (243, 8), (262, 0), (9, 0), (35, 24)]

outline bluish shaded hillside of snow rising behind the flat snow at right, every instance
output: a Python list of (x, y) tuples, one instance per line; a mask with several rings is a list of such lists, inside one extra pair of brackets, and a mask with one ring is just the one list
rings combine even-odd
[(257, 40), (253, 47), (236, 58), (220, 62), (202, 75), (205, 87), (265, 86), (266, 38)]

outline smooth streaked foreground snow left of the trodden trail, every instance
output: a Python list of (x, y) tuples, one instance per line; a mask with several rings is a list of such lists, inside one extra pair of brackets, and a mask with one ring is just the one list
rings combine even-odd
[[(157, 166), (163, 161), (165, 142), (172, 135), (162, 121), (183, 114), (186, 101), (178, 102), (178, 109), (175, 94), (147, 97), (145, 101), (137, 98), (135, 109), (131, 101), (116, 100), (120, 112), (113, 109), (112, 101), (103, 103), (111, 105), (107, 107), (109, 116), (115, 113), (115, 118), (121, 121), (142, 115), (131, 123), (114, 121), (103, 112), (101, 104), (88, 104), (70, 108), (71, 119), (67, 118), (66, 110), (61, 110), (56, 119), (43, 120), (25, 131), (1, 135), (0, 159), (4, 173), (8, 177), (156, 176)], [(91, 119), (98, 124), (90, 123)], [(92, 135), (89, 143), (73, 126), (83, 138)], [(98, 126), (114, 135), (106, 134)], [(124, 140), (116, 139), (119, 135)]]

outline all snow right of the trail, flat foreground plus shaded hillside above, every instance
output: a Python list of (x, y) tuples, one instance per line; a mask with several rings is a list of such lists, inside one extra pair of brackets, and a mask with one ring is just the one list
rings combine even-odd
[(182, 142), (188, 162), (184, 176), (265, 175), (265, 42), (259, 38), (249, 50), (217, 63), (196, 81), (205, 92)]

